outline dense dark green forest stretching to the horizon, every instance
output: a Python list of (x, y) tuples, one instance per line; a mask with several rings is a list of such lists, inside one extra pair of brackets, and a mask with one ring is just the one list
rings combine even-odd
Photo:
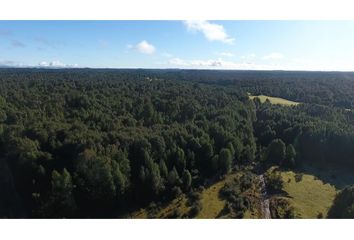
[[(2, 218), (158, 218), (181, 196), (189, 212), (166, 217), (193, 218), (221, 181), (219, 217), (262, 218), (260, 175), (271, 217), (297, 218), (281, 171), (353, 169), (353, 146), (354, 73), (0, 69)], [(353, 202), (338, 188), (317, 217), (353, 218)]]

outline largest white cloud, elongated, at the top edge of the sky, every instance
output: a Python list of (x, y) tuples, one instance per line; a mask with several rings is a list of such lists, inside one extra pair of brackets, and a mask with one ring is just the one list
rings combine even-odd
[(231, 38), (220, 24), (210, 23), (208, 21), (185, 21), (184, 24), (190, 31), (202, 32), (209, 41), (220, 41), (223, 43), (233, 43), (234, 38)]

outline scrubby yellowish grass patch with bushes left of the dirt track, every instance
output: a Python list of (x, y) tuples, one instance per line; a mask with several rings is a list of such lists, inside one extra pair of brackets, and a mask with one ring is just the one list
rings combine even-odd
[[(231, 173), (201, 191), (182, 194), (163, 206), (147, 207), (132, 218), (259, 218), (259, 193), (255, 178)], [(226, 197), (222, 192), (228, 192)], [(232, 201), (233, 199), (234, 201)], [(158, 210), (156, 210), (158, 209)], [(238, 209), (238, 211), (235, 211)]]

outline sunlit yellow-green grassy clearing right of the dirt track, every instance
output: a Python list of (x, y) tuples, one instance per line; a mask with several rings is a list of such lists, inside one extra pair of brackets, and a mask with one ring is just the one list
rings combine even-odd
[(326, 217), (333, 203), (336, 188), (309, 174), (303, 174), (301, 180), (297, 182), (295, 175), (292, 171), (281, 171), (284, 180), (283, 190), (288, 194), (287, 198), (295, 209), (296, 217), (317, 218), (320, 213)]

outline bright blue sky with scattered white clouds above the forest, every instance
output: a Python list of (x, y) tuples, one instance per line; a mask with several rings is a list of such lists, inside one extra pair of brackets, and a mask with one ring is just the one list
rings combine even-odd
[(354, 21), (0, 21), (0, 66), (354, 71)]

